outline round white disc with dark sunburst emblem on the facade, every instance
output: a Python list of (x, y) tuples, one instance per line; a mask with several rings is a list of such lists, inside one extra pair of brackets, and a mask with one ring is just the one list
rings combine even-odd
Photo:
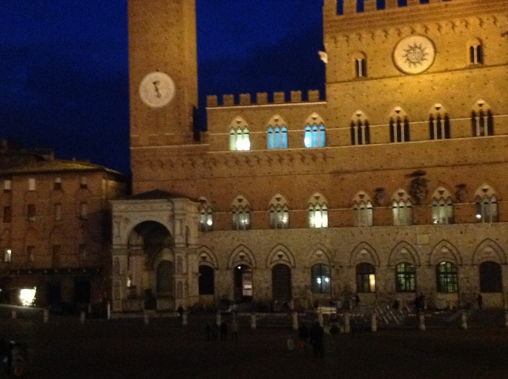
[(393, 51), (397, 68), (405, 74), (420, 74), (434, 63), (435, 48), (425, 36), (409, 36), (401, 40)]

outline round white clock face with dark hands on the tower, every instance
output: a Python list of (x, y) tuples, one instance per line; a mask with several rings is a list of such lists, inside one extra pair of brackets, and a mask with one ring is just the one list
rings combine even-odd
[(162, 108), (175, 97), (175, 82), (165, 73), (150, 73), (139, 85), (139, 97), (150, 108)]

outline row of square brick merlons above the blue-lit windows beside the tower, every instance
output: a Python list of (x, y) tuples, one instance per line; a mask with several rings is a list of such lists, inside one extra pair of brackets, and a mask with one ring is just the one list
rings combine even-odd
[(207, 108), (216, 108), (216, 107), (234, 107), (234, 106), (263, 106), (263, 105), (273, 105), (273, 104), (297, 104), (297, 103), (305, 103), (305, 102), (318, 102), (320, 100), (320, 91), (319, 90), (310, 90), (307, 91), (307, 99), (304, 100), (302, 96), (302, 91), (291, 91), (289, 93), (289, 101), (286, 101), (286, 93), (285, 92), (274, 92), (272, 94), (271, 99), (268, 97), (267, 92), (258, 92), (256, 94), (256, 101), (251, 99), (250, 93), (241, 93), (238, 97), (235, 95), (223, 95), (222, 104), (219, 104), (217, 95), (209, 95), (206, 96), (206, 107)]

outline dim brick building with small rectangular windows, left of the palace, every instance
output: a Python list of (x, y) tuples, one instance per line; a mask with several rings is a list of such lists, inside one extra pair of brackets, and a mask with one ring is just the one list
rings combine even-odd
[[(0, 296), (55, 310), (98, 304), (109, 292), (109, 200), (125, 194), (120, 173), (52, 151), (0, 147)], [(106, 299), (104, 299), (106, 300)]]

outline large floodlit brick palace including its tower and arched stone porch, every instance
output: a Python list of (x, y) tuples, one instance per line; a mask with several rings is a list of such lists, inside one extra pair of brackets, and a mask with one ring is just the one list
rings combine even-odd
[(113, 212), (114, 311), (133, 286), (166, 308), (505, 304), (508, 3), (375, 4), (324, 1), (326, 96), (208, 96), (196, 141), (194, 2), (129, 2), (133, 190), (166, 205)]

